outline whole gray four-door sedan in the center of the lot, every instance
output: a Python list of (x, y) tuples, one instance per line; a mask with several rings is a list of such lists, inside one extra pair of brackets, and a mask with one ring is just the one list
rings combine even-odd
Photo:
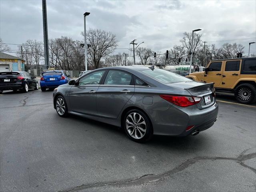
[(61, 117), (75, 114), (122, 127), (134, 141), (153, 134), (196, 135), (217, 120), (213, 83), (190, 80), (154, 67), (100, 68), (53, 93)]

